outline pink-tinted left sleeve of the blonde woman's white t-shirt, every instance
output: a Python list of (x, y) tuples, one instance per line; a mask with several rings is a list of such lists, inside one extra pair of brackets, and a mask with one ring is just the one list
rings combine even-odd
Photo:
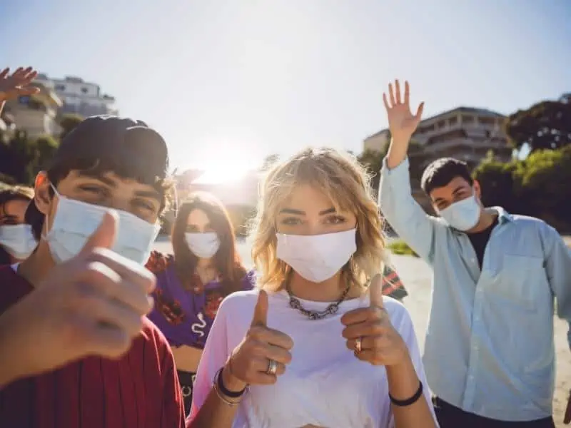
[(201, 360), (198, 363), (198, 370), (196, 370), (196, 379), (192, 392), (191, 413), (188, 415), (187, 424), (198, 414), (198, 410), (202, 407), (212, 389), (216, 372), (218, 372), (218, 370), (226, 364), (226, 360), (228, 360), (228, 331), (226, 328), (227, 306), (228, 300), (223, 300), (216, 313), (216, 318), (212, 324), (208, 339), (206, 339), (206, 345), (204, 345)]

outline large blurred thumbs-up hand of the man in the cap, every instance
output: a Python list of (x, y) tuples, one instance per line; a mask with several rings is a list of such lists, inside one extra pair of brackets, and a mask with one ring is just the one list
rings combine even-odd
[(107, 213), (79, 255), (54, 267), (36, 290), (1, 315), (0, 348), (14, 351), (11, 379), (88, 355), (121, 357), (131, 347), (153, 305), (148, 293), (155, 277), (110, 250), (116, 223), (116, 214)]

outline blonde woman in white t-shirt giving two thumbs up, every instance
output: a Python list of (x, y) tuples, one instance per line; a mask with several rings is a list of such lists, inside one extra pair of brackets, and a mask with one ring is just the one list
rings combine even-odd
[(187, 427), (435, 427), (410, 316), (375, 275), (383, 228), (368, 184), (330, 149), (268, 173), (258, 289), (222, 302)]

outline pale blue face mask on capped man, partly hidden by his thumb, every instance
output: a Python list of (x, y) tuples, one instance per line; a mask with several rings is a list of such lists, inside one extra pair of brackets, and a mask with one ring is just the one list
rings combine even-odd
[[(53, 188), (53, 186), (52, 186)], [(84, 248), (107, 212), (107, 208), (59, 195), (56, 215), (46, 240), (56, 263), (74, 258)], [(113, 248), (115, 253), (143, 265), (151, 254), (153, 242), (161, 229), (136, 215), (118, 211), (118, 230)], [(46, 216), (46, 222), (48, 218)]]

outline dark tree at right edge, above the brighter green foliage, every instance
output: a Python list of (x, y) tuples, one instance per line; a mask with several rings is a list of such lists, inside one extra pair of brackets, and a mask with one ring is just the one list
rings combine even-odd
[(515, 148), (531, 151), (560, 148), (571, 143), (571, 93), (557, 101), (542, 101), (507, 118), (505, 131)]

